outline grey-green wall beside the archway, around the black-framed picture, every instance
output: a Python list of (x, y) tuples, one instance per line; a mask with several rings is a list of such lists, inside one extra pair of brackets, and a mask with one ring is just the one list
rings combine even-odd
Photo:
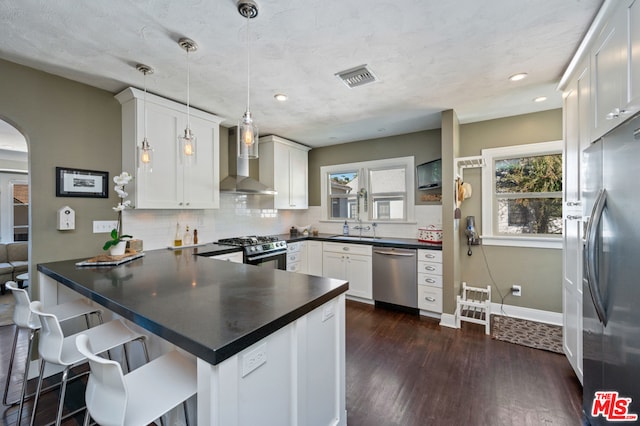
[[(29, 145), (30, 265), (37, 298), (35, 265), (99, 254), (105, 236), (93, 234), (92, 221), (116, 218), (112, 189), (109, 199), (57, 198), (55, 167), (120, 173), (120, 104), (109, 92), (3, 60), (0, 76), (0, 118)], [(56, 212), (65, 205), (76, 212), (73, 231), (56, 230)]]

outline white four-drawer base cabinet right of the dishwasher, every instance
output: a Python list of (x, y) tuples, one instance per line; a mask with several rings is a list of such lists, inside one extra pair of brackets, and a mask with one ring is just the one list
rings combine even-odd
[(418, 308), (442, 313), (442, 251), (418, 250)]

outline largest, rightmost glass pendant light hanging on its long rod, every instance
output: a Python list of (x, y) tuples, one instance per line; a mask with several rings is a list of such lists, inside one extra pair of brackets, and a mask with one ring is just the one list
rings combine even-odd
[(249, 55), (249, 20), (258, 16), (258, 5), (253, 0), (240, 0), (238, 12), (247, 18), (247, 111), (238, 121), (238, 157), (258, 158), (258, 127), (249, 110), (251, 59)]

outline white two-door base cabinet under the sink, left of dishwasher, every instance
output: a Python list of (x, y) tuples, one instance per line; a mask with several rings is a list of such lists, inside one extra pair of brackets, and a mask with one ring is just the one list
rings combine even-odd
[(347, 280), (347, 295), (372, 300), (372, 247), (341, 243), (323, 243), (322, 246), (322, 276)]

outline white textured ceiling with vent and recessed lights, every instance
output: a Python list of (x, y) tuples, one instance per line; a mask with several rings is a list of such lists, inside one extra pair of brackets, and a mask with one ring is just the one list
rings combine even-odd
[[(318, 147), (561, 107), (556, 85), (602, 0), (256, 0), (251, 111), (260, 134)], [(114, 94), (142, 88), (233, 126), (246, 108), (246, 19), (235, 0), (2, 0), (0, 58)], [(347, 88), (367, 64), (380, 79)], [(520, 82), (511, 74), (527, 72)], [(1, 78), (1, 76), (0, 76)], [(285, 93), (289, 100), (274, 100)], [(548, 100), (534, 103), (537, 96)]]

